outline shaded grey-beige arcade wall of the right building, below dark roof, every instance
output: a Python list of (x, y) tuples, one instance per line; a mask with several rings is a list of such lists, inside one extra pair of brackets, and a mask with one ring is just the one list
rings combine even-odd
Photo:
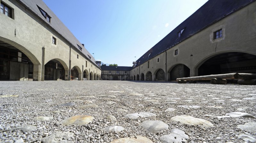
[[(150, 71), (155, 81), (155, 74), (161, 68), (165, 71), (166, 81), (169, 81), (171, 69), (178, 64), (186, 65), (190, 69), (190, 76), (197, 76), (198, 68), (215, 55), (227, 52), (256, 55), (255, 25), (256, 3), (254, 2), (150, 59), (149, 68), (147, 68), (146, 61), (132, 69), (130, 76), (133, 76), (134, 80), (134, 75), (141, 76), (144, 73), (146, 76), (146, 73)], [(219, 29), (222, 29), (223, 36), (213, 40), (213, 33)], [(174, 55), (176, 49), (178, 49), (178, 55)], [(159, 63), (157, 63), (157, 58), (160, 58)]]

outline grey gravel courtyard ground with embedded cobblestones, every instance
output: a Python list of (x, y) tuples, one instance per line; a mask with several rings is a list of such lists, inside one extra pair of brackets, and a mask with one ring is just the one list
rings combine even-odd
[[(55, 132), (68, 132), (72, 134), (66, 135), (66, 138), (62, 137), (62, 142), (111, 142), (115, 139), (140, 135), (154, 143), (161, 143), (160, 137), (169, 134), (173, 128), (184, 131), (188, 135), (186, 141), (190, 143), (256, 142), (255, 124), (251, 125), (251, 122), (256, 122), (256, 119), (252, 117), (256, 116), (255, 97), (256, 86), (235, 84), (1, 81), (0, 142), (41, 142), (42, 138)], [(62, 106), (65, 103), (69, 103), (68, 106)], [(182, 108), (180, 105), (200, 107)], [(168, 108), (175, 110), (165, 111)], [(234, 111), (251, 114), (251, 118), (247, 118), (248, 116), (217, 117)], [(126, 114), (136, 112), (151, 112), (156, 116), (137, 119), (125, 118)], [(94, 119), (92, 123), (84, 125), (62, 126), (58, 124), (63, 119), (76, 115), (89, 115)], [(116, 121), (106, 118), (108, 115), (115, 116)], [(201, 118), (211, 122), (213, 126), (203, 128), (199, 125), (186, 125), (171, 119), (180, 115)], [(53, 118), (46, 121), (33, 119), (38, 116)], [(160, 120), (169, 127), (160, 132), (149, 133), (139, 126), (146, 120)], [(246, 129), (238, 128), (238, 125), (245, 123), (249, 124)], [(35, 128), (30, 131), (16, 128), (24, 125), (33, 125)], [(124, 130), (109, 133), (101, 130), (113, 125), (122, 126)]]

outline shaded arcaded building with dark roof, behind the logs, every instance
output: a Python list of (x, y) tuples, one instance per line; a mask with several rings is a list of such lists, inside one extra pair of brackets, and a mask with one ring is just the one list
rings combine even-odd
[(209, 0), (142, 55), (133, 80), (256, 73), (255, 0)]

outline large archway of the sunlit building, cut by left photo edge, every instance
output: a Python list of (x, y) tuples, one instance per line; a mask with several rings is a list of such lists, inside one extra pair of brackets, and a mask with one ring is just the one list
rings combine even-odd
[(0, 80), (41, 81), (41, 63), (24, 46), (0, 37)]

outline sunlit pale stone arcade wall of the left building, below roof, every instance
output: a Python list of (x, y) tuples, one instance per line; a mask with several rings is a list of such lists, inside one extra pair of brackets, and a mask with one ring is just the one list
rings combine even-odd
[[(88, 74), (92, 71), (93, 74), (101, 75), (101, 69), (95, 63), (88, 61), (78, 49), (71, 47), (70, 54), (71, 44), (43, 20), (17, 1), (4, 0), (3, 2), (14, 10), (14, 17), (10, 18), (0, 13), (0, 40), (16, 47), (29, 57), (34, 64), (33, 80), (44, 80), (44, 65), (53, 59), (61, 62), (64, 67), (65, 80), (69, 80), (70, 68), (74, 66), (79, 69), (79, 80), (82, 80), (82, 69), (87, 70)], [(56, 45), (52, 44), (53, 36), (56, 38)], [(44, 57), (42, 57), (43, 48), (45, 49)]]

